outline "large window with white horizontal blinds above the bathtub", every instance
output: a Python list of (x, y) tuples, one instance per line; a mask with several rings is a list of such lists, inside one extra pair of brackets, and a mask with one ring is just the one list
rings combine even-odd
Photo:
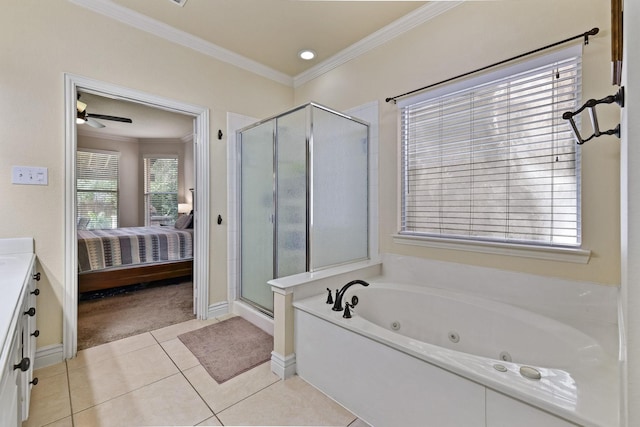
[(581, 50), (399, 103), (400, 234), (580, 246)]

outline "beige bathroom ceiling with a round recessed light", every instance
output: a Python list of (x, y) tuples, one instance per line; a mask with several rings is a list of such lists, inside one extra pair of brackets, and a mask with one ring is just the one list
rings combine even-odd
[[(424, 1), (112, 0), (289, 76), (329, 59)], [(315, 59), (297, 54), (312, 49)]]

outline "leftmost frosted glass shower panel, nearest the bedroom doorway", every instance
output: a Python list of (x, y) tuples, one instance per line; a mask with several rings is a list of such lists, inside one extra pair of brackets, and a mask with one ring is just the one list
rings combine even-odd
[(275, 120), (240, 135), (240, 297), (273, 312)]

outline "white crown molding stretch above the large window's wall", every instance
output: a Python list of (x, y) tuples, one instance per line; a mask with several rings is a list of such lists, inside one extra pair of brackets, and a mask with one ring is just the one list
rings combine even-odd
[(308, 69), (307, 71), (298, 74), (293, 78), (293, 87), (297, 88), (303, 84), (320, 77), (321, 75), (357, 58), (360, 55), (367, 53), (368, 51), (406, 33), (407, 31), (421, 25), (436, 16), (453, 9), (456, 6), (464, 3), (462, 1), (434, 1), (429, 2), (426, 5), (419, 7), (413, 12), (403, 16), (381, 28), (375, 33), (370, 34), (364, 39), (352, 44), (346, 49), (333, 55), (331, 58), (321, 62), (320, 64)]

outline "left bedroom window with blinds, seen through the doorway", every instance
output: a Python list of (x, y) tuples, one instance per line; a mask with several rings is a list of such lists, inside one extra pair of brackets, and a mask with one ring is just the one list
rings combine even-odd
[(77, 152), (76, 220), (79, 228), (118, 227), (118, 159), (116, 152)]

